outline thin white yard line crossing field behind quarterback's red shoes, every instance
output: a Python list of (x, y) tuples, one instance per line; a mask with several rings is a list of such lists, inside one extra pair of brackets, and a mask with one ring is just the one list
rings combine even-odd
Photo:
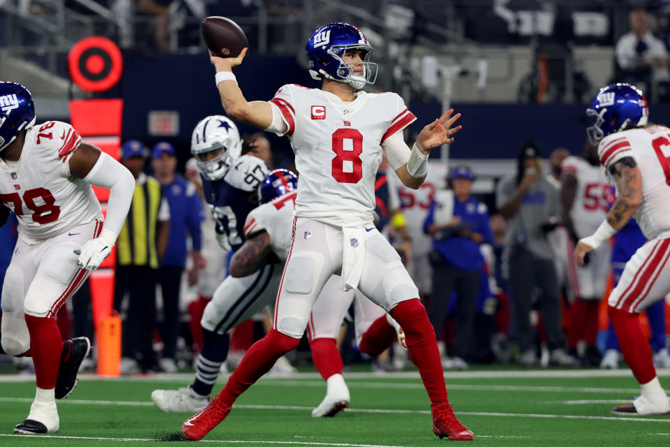
[[(0, 397), (0, 402), (32, 402), (27, 397)], [(63, 404), (88, 404), (88, 405), (116, 405), (116, 406), (154, 406), (151, 402), (128, 402), (114, 400), (64, 400)], [(288, 406), (288, 405), (234, 405), (239, 409), (251, 410), (288, 410), (288, 411), (311, 411), (311, 406)], [(392, 410), (392, 409), (362, 409), (350, 408), (345, 411), (351, 413), (387, 413), (387, 414), (430, 414), (429, 410)], [(636, 422), (670, 423), (670, 419), (636, 418), (627, 416), (576, 416), (569, 414), (539, 414), (539, 413), (498, 413), (486, 411), (459, 411), (465, 416), (495, 416), (509, 418), (549, 418), (549, 419), (595, 419), (595, 420), (627, 420)]]

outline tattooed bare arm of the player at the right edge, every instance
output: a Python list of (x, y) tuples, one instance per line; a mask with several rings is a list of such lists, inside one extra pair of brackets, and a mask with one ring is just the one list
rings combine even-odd
[(607, 212), (606, 220), (595, 233), (579, 240), (574, 249), (577, 265), (583, 265), (584, 255), (600, 247), (602, 242), (623, 228), (642, 202), (642, 174), (635, 159), (630, 156), (620, 159), (610, 167), (609, 172), (616, 180), (618, 196)]

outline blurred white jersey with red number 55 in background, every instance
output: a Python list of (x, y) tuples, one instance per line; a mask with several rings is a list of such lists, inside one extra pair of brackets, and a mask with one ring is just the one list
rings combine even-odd
[(560, 169), (563, 175), (572, 175), (577, 180), (570, 218), (579, 238), (595, 233), (605, 219), (611, 203), (612, 185), (607, 180), (602, 166), (593, 166), (579, 156), (568, 156)]

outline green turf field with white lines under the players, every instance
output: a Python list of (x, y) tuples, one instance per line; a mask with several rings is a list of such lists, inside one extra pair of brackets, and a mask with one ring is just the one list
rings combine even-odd
[[(163, 413), (154, 388), (191, 379), (153, 376), (100, 380), (83, 375), (59, 403), (61, 429), (46, 436), (13, 435), (34, 396), (30, 379), (0, 376), (0, 446), (147, 446), (178, 432), (190, 414)], [(346, 376), (351, 409), (311, 418), (325, 384), (318, 374), (262, 379), (230, 416), (205, 437), (241, 446), (435, 446), (429, 402), (416, 373)], [(614, 416), (612, 406), (638, 393), (630, 371), (477, 371), (447, 373), (461, 421), (479, 446), (667, 446), (670, 416)], [(670, 388), (670, 378), (661, 377)], [(225, 383), (221, 379), (216, 390)], [(221, 385), (221, 386), (220, 386)], [(201, 441), (202, 442), (202, 441)], [(164, 443), (161, 443), (164, 444)]]

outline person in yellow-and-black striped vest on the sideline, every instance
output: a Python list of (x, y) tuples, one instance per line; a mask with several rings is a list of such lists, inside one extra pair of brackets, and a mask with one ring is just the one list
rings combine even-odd
[[(117, 239), (117, 268), (114, 275), (114, 309), (128, 292), (128, 309), (121, 337), (121, 373), (159, 369), (154, 352), (156, 326), (156, 281), (158, 259), (163, 257), (170, 234), (170, 207), (158, 180), (142, 172), (144, 145), (128, 140), (121, 147), (121, 163), (135, 177), (133, 202)], [(120, 313), (120, 312), (119, 312)]]

